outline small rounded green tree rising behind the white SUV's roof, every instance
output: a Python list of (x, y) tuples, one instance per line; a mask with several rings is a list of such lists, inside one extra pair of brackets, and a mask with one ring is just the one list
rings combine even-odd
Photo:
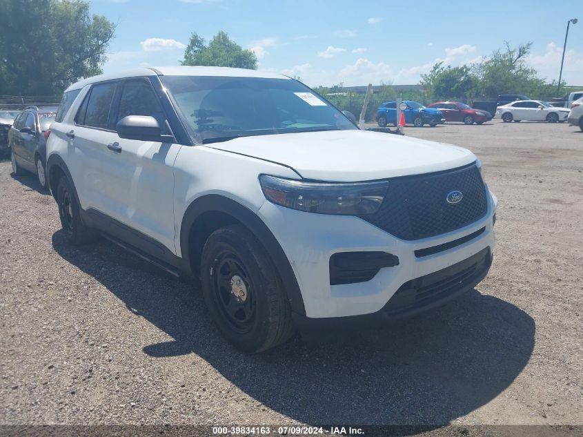
[(237, 67), (257, 70), (257, 57), (251, 50), (244, 50), (228, 37), (226, 32), (219, 32), (205, 45), (204, 38), (196, 33), (190, 35), (188, 46), (184, 50), (184, 66)]

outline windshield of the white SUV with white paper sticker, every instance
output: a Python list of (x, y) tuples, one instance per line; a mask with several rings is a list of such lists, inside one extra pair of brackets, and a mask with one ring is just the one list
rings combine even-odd
[(202, 143), (234, 137), (356, 129), (310, 88), (290, 79), (162, 76)]

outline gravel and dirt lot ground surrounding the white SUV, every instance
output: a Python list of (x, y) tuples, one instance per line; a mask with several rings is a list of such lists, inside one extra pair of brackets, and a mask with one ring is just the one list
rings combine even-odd
[(52, 197), (0, 162), (0, 423), (582, 424), (583, 134), (406, 135), (482, 159), (491, 273), (396, 327), (256, 356), (224, 342), (195, 284), (107, 242), (64, 244)]

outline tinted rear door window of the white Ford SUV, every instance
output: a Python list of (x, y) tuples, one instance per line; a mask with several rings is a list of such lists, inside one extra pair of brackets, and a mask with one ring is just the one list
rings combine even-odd
[(117, 82), (92, 86), (75, 116), (75, 123), (92, 128), (108, 128), (109, 114)]

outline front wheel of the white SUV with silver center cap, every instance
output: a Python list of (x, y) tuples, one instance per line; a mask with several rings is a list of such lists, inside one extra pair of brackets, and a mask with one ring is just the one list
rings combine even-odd
[(221, 333), (246, 352), (293, 334), (290, 306), (273, 262), (244, 226), (213, 232), (201, 257), (204, 300)]

